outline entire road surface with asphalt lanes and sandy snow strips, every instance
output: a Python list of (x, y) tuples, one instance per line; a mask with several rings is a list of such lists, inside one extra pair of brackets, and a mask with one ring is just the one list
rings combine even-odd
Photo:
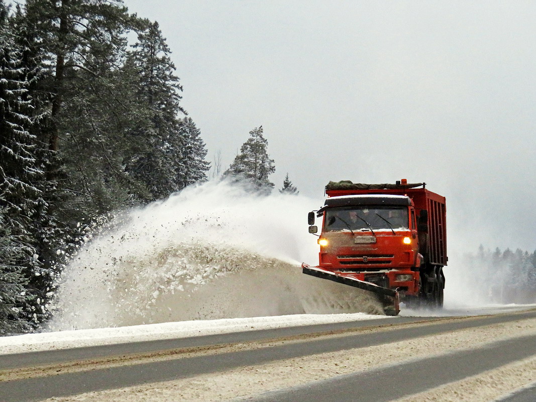
[(511, 402), (536, 400), (535, 382), (536, 309), (0, 356), (3, 402)]

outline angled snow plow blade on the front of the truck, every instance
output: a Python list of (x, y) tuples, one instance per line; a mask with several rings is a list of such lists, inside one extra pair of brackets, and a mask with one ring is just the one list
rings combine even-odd
[(381, 287), (371, 282), (365, 282), (359, 279), (355, 279), (348, 276), (341, 276), (334, 272), (327, 271), (318, 266), (309, 266), (305, 263), (302, 264), (303, 273), (311, 275), (321, 279), (328, 279), (339, 284), (349, 285), (376, 293), (380, 296), (383, 303), (383, 311), (385, 315), (396, 316), (400, 312), (398, 292), (393, 289)]

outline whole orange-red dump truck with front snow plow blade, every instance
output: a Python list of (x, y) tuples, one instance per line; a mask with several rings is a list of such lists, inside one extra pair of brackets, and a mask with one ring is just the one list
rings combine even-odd
[(446, 265), (445, 197), (426, 183), (329, 182), (324, 206), (309, 212), (309, 233), (318, 233), (318, 266), (303, 273), (374, 292), (385, 314), (399, 301), (443, 306)]

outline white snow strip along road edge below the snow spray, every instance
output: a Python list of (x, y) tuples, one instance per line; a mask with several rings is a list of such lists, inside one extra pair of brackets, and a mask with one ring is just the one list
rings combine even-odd
[(42, 332), (0, 338), (0, 354), (39, 352), (51, 349), (113, 345), (159, 339), (188, 338), (220, 333), (274, 329), (286, 326), (329, 324), (378, 318), (387, 317), (369, 315), (362, 312), (354, 314), (295, 314)]

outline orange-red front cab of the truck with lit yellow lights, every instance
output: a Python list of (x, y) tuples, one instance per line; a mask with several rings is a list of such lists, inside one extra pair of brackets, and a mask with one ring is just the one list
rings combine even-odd
[(401, 296), (419, 291), (419, 241), (407, 196), (330, 197), (323, 218), (319, 266), (386, 288)]

